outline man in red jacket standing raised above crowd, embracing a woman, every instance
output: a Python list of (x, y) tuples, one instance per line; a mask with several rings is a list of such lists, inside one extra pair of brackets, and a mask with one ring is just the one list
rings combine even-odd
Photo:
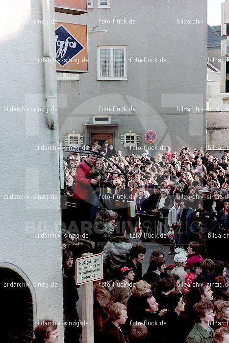
[(82, 221), (92, 221), (91, 218), (91, 184), (96, 185), (101, 176), (96, 179), (88, 179), (89, 172), (96, 161), (95, 154), (88, 154), (87, 158), (80, 162), (76, 170), (76, 183), (73, 197), (77, 200), (77, 214), (80, 216), (78, 228), (81, 227)]

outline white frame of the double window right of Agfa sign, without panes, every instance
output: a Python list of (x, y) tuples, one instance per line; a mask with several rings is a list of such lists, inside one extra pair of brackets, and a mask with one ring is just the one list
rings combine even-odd
[[(110, 49), (110, 73), (113, 76), (100, 76), (100, 51), (102, 49)], [(124, 76), (114, 76), (114, 49), (124, 49)], [(97, 81), (123, 81), (127, 80), (127, 46), (126, 45), (98, 45), (97, 46)]]

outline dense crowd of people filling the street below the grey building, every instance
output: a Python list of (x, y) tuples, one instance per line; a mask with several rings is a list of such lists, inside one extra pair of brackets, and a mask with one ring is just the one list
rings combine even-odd
[[(94, 282), (95, 340), (228, 343), (229, 151), (221, 159), (188, 147), (123, 156), (107, 141), (85, 150), (64, 161), (65, 195), (76, 200), (79, 237), (84, 227), (92, 251), (103, 256), (103, 280)], [(120, 212), (127, 203), (135, 216)], [(73, 261), (89, 247), (69, 228), (62, 234), (64, 316), (78, 322), (65, 328), (68, 343), (81, 330)], [(146, 247), (134, 238), (169, 245), (174, 263), (151, 251), (142, 275)]]

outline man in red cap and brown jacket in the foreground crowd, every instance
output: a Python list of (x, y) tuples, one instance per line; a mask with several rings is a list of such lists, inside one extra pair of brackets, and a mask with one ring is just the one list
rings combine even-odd
[(120, 276), (120, 279), (114, 282), (111, 299), (127, 306), (127, 300), (132, 295), (130, 285), (134, 279), (133, 268), (127, 263), (124, 264), (120, 268)]

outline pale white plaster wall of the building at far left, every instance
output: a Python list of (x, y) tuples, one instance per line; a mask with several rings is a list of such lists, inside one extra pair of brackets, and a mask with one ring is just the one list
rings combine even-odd
[[(54, 0), (50, 4), (53, 19)], [(33, 109), (46, 106), (44, 64), (35, 60), (43, 56), (43, 25), (37, 22), (42, 19), (41, 1), (7, 0), (1, 17), (0, 261), (23, 270), (31, 283), (46, 283), (45, 287), (33, 287), (35, 320), (49, 317), (62, 322), (58, 150), (38, 151), (34, 147), (58, 145), (57, 119), (56, 129), (51, 130), (46, 113)], [(52, 28), (55, 51), (54, 22)], [(55, 64), (53, 85), (56, 88)], [(29, 109), (11, 112), (7, 106)], [(7, 198), (12, 195), (27, 199)], [(52, 195), (56, 199), (51, 199)], [(37, 200), (37, 196), (48, 196), (49, 200)], [(55, 232), (58, 237), (38, 239), (38, 232)], [(52, 282), (57, 287), (51, 287)], [(59, 342), (63, 342), (62, 325), (59, 331)]]

